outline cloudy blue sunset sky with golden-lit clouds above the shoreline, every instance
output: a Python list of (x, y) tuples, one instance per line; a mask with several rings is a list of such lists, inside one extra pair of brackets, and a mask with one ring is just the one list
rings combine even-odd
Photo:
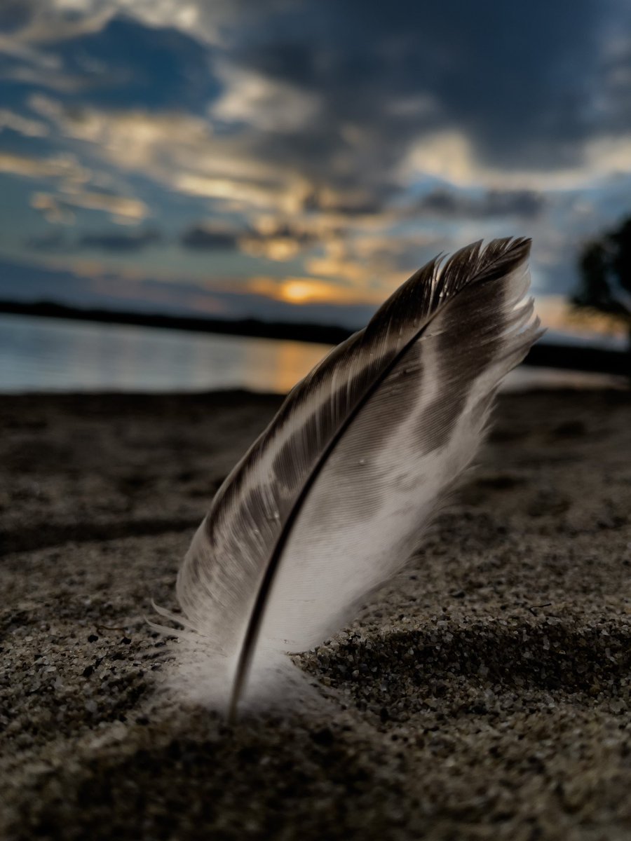
[(0, 299), (359, 326), (631, 213), (628, 0), (0, 0)]

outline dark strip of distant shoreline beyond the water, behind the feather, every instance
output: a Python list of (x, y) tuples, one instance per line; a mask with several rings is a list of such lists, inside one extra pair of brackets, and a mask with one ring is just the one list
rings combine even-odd
[[(292, 324), (285, 321), (272, 322), (257, 319), (220, 320), (181, 315), (132, 313), (114, 309), (82, 309), (48, 301), (35, 303), (0, 301), (0, 314), (94, 321), (101, 324), (137, 325), (196, 333), (218, 333), (224, 336), (305, 341), (322, 345), (337, 345), (353, 333), (346, 327), (332, 325)], [(572, 371), (631, 376), (631, 353), (597, 347), (548, 344), (539, 341), (528, 353), (524, 364), (537, 368), (563, 368)]]

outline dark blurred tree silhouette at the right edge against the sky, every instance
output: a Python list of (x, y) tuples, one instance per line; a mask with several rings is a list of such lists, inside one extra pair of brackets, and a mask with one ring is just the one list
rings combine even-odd
[(631, 216), (581, 252), (581, 283), (572, 304), (627, 326), (631, 352)]

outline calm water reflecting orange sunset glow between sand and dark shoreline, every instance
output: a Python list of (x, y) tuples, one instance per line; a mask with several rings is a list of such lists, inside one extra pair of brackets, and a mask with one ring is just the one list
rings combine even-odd
[[(211, 391), (285, 393), (327, 345), (0, 315), (0, 392)], [(507, 390), (611, 385), (599, 374), (520, 368)]]

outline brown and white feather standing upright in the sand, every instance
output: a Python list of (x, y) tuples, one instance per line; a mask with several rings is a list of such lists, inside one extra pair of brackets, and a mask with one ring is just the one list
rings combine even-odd
[[(219, 489), (178, 574), (180, 687), (284, 702), (287, 656), (338, 631), (418, 547), (538, 337), (530, 241), (437, 257), (290, 392)], [(167, 611), (161, 611), (168, 616)]]

